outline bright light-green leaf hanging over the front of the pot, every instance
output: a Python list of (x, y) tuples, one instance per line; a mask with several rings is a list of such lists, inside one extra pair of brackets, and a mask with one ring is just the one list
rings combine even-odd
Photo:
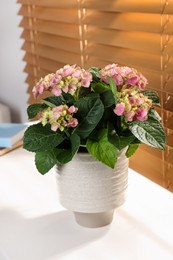
[(108, 141), (106, 129), (98, 133), (97, 139), (88, 139), (86, 147), (89, 153), (98, 161), (111, 168), (115, 167), (118, 150)]

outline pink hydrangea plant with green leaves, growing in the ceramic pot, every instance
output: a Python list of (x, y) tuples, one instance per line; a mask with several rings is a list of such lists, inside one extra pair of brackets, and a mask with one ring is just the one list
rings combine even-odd
[(33, 94), (40, 98), (47, 93), (47, 97), (27, 110), (29, 119), (37, 116), (40, 122), (29, 126), (23, 139), (24, 148), (35, 153), (38, 171), (45, 174), (55, 165), (64, 169), (79, 153), (90, 156), (89, 165), (99, 162), (99, 170), (104, 171), (119, 170), (123, 156), (127, 171), (125, 160), (140, 144), (163, 150), (165, 132), (154, 108), (160, 105), (159, 97), (145, 89), (147, 83), (136, 69), (117, 64), (88, 70), (66, 65), (41, 78)]

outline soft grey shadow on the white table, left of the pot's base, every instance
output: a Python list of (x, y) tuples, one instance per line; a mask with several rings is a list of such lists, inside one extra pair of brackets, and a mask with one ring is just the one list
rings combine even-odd
[(80, 227), (69, 211), (30, 219), (14, 211), (0, 211), (0, 245), (10, 260), (60, 257), (99, 239), (108, 230), (109, 226), (94, 230)]

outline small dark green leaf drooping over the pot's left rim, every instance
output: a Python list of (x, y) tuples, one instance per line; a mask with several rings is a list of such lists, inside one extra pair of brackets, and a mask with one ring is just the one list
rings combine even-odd
[(80, 137), (76, 134), (73, 134), (70, 137), (70, 147), (67, 149), (57, 149), (57, 161), (60, 164), (65, 164), (72, 160), (73, 156), (79, 149), (80, 146)]

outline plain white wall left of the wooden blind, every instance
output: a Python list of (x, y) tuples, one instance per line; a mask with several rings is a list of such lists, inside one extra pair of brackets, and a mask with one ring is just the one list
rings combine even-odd
[(3, 0), (0, 4), (0, 102), (10, 107), (13, 122), (24, 122), (28, 94), (19, 28), (22, 18), (17, 14), (20, 5), (16, 0)]

